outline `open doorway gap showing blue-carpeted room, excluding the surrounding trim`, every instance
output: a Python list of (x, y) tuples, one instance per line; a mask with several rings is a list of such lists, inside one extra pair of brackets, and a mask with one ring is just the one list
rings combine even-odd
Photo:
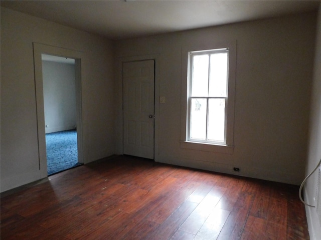
[(75, 59), (42, 54), (47, 173), (78, 162)]

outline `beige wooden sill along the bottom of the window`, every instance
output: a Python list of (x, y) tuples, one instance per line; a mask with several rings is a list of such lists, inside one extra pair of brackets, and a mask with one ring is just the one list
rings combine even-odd
[(218, 145), (211, 143), (195, 142), (195, 141), (181, 141), (181, 148), (211, 151), (224, 154), (233, 154), (234, 146)]

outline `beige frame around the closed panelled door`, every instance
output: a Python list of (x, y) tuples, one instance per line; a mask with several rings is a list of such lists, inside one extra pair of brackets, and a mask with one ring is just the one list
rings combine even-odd
[(117, 70), (117, 89), (120, 93), (121, 97), (117, 98), (117, 105), (119, 106), (118, 113), (117, 113), (117, 124), (116, 124), (116, 132), (121, 132), (122, 134), (117, 134), (116, 136), (116, 152), (119, 154), (124, 153), (123, 148), (123, 78), (122, 78), (122, 66), (124, 62), (131, 62), (131, 61), (142, 61), (142, 60), (154, 60), (154, 160), (158, 158), (158, 116), (159, 116), (159, 76), (161, 76), (159, 72), (159, 67), (157, 67), (157, 62), (159, 60), (160, 54), (149, 54), (149, 55), (138, 55), (138, 56), (121, 56), (117, 58), (116, 61), (116, 70)]

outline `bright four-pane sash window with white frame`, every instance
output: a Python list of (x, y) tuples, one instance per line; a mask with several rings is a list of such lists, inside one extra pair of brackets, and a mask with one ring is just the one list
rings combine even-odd
[(188, 52), (187, 141), (227, 145), (229, 48)]

